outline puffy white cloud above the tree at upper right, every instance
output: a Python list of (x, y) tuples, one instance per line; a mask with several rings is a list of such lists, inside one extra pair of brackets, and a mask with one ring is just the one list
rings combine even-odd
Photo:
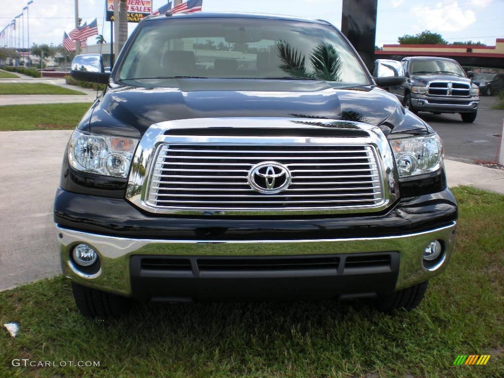
[(417, 17), (418, 25), (436, 31), (457, 31), (466, 29), (476, 22), (476, 15), (471, 10), (462, 10), (458, 2), (438, 3), (435, 7), (416, 7), (412, 13)]

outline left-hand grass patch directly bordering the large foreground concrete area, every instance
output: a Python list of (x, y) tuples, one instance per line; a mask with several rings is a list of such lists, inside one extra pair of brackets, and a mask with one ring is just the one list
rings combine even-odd
[(74, 129), (90, 106), (90, 103), (0, 106), (0, 131)]

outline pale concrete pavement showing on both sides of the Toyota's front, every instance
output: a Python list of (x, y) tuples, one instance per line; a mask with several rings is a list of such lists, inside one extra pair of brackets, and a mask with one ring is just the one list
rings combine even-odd
[[(0, 133), (0, 291), (60, 273), (52, 204), (72, 132)], [(504, 194), (504, 171), (452, 160), (445, 164), (450, 186)]]

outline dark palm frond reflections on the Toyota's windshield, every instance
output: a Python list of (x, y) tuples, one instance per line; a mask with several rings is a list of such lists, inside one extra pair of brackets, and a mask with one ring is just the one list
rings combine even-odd
[(297, 78), (340, 81), (341, 58), (332, 44), (319, 43), (309, 55), (311, 72), (306, 71), (303, 54), (293, 49), (289, 42), (277, 42), (277, 54), (281, 60), (280, 70)]

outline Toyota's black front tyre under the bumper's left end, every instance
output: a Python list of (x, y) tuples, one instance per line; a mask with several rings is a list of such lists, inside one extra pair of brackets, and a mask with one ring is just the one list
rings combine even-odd
[(75, 304), (88, 318), (119, 317), (127, 312), (132, 301), (128, 298), (91, 289), (72, 282)]

